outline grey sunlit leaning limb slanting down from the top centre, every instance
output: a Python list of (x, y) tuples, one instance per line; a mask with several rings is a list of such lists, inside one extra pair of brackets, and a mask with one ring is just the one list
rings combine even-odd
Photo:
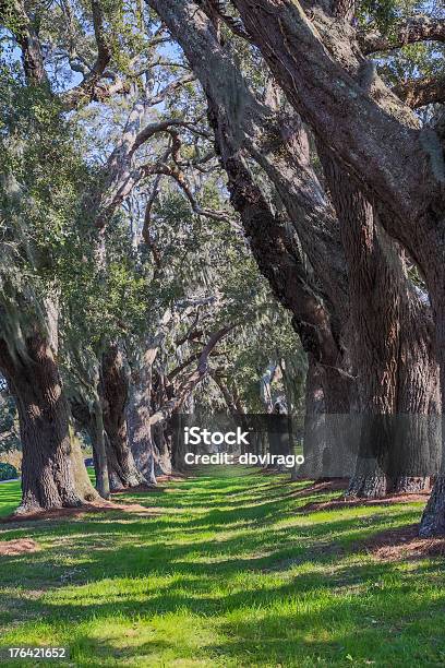
[(267, 172), (324, 294), (344, 308), (347, 290), (338, 225), (303, 150), (301, 121), (284, 121), (276, 108), (257, 100), (229, 49), (217, 41), (208, 17), (195, 3), (151, 0), (151, 5), (168, 25), (199, 77), (215, 112), (212, 123), (218, 124), (222, 138), (230, 135), (230, 151), (246, 147)]

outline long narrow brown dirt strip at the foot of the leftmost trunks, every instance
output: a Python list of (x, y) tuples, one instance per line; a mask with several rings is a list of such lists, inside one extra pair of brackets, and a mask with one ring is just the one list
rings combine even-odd
[(113, 501), (106, 501), (105, 499), (101, 499), (100, 501), (93, 501), (92, 503), (86, 503), (85, 505), (81, 505), (80, 508), (57, 508), (47, 511), (8, 515), (8, 517), (2, 517), (0, 520), (0, 523), (10, 524), (13, 522), (14, 524), (19, 524), (22, 522), (35, 522), (39, 520), (83, 517), (88, 513), (104, 513), (109, 511), (123, 511), (125, 513), (144, 516), (153, 516), (160, 514), (159, 509), (156, 508), (145, 508), (145, 505), (140, 505), (139, 503), (116, 503)]

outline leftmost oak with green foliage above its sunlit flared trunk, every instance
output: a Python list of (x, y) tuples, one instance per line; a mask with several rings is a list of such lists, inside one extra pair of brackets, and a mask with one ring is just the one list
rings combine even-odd
[(76, 505), (95, 499), (96, 492), (70, 439), (57, 365), (59, 288), (49, 267), (59, 230), (76, 208), (71, 183), (84, 178), (83, 168), (75, 138), (46, 91), (33, 87), (28, 97), (8, 71), (2, 84), (0, 366), (19, 410), (20, 510)]

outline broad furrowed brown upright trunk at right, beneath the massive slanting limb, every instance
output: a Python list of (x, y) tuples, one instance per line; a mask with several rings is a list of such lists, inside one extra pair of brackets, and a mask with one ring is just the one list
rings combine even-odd
[(350, 175), (320, 143), (318, 153), (341, 225), (359, 370), (361, 440), (348, 493), (417, 491), (428, 485), (428, 475), (419, 472), (431, 443), (421, 427), (437, 394), (430, 310), (408, 279), (402, 252)]

